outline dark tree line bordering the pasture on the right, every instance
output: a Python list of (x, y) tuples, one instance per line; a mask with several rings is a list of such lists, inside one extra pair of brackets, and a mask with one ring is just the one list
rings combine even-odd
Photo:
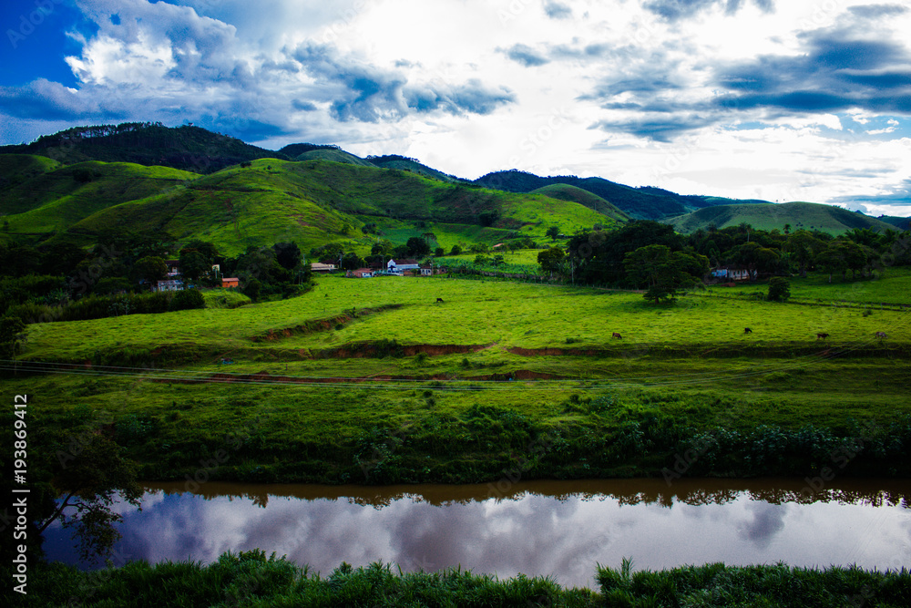
[(732, 266), (746, 271), (751, 281), (760, 276), (788, 276), (822, 271), (856, 278), (890, 265), (911, 263), (907, 232), (874, 232), (855, 228), (834, 237), (819, 231), (758, 230), (747, 223), (727, 228), (710, 226), (678, 234), (670, 225), (630, 222), (616, 231), (590, 230), (572, 236), (565, 248), (538, 254), (548, 273), (574, 283), (610, 284), (646, 289), (646, 297), (672, 299), (699, 283), (710, 268)]

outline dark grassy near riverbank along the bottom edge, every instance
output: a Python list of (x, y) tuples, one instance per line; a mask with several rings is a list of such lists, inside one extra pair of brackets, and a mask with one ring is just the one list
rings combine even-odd
[(707, 564), (632, 572), (629, 562), (597, 568), (599, 590), (568, 589), (546, 578), (498, 580), (462, 569), (404, 573), (374, 563), (342, 563), (321, 577), (263, 551), (225, 553), (218, 562), (130, 562), (79, 572), (61, 564), (32, 574), (25, 605), (160, 606), (832, 606), (911, 605), (911, 573), (857, 568), (813, 570), (783, 564)]

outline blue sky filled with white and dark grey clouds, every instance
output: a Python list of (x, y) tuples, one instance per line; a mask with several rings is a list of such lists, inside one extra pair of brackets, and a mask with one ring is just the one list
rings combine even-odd
[(189, 122), (911, 216), (911, 3), (4, 0), (0, 144)]

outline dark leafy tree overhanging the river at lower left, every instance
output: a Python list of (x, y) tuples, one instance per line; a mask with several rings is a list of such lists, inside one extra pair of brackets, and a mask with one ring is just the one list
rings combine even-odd
[[(63, 500), (45, 520), (38, 523), (38, 534), (60, 520), (65, 528), (75, 527), (79, 552), (84, 560), (105, 555), (120, 539), (115, 524), (123, 517), (111, 509), (116, 500), (139, 507), (143, 490), (137, 482), (136, 463), (123, 456), (118, 446), (102, 432), (90, 433), (77, 449), (57, 451), (63, 470), (51, 482)], [(75, 512), (67, 512), (75, 508)], [(140, 508), (141, 509), (141, 508)]]

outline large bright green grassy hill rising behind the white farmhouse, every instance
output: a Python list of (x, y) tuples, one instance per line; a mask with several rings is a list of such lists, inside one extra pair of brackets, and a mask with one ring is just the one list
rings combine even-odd
[[(482, 225), (485, 213), (498, 214), (487, 227)], [(423, 222), (422, 227), (416, 222)], [(446, 184), (407, 171), (263, 159), (97, 211), (69, 232), (91, 242), (115, 226), (165, 230), (181, 240), (214, 242), (227, 253), (280, 241), (298, 242), (305, 250), (351, 241), (368, 251), (377, 236), (360, 230), (368, 223), (394, 242), (429, 231), (440, 246), (451, 247), (497, 242), (513, 231), (537, 238), (551, 223), (574, 232), (614, 221), (575, 202)]]

